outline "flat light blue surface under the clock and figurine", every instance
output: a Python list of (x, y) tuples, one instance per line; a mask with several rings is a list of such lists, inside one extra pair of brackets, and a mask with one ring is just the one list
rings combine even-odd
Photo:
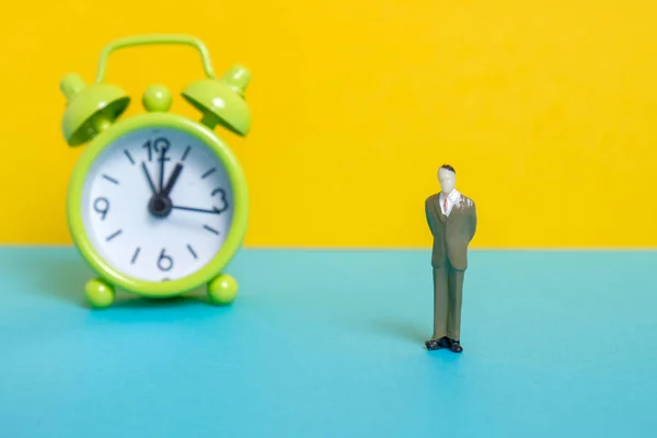
[(84, 307), (72, 249), (0, 250), (3, 437), (655, 437), (657, 253), (476, 252), (464, 353), (429, 253), (242, 251), (233, 307)]

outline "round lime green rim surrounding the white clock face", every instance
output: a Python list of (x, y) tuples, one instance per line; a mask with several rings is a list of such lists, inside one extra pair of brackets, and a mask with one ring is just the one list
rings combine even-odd
[[(200, 269), (182, 278), (149, 281), (127, 276), (111, 266), (94, 249), (82, 219), (84, 181), (96, 158), (120, 137), (140, 129), (169, 128), (183, 130), (204, 142), (223, 163), (234, 198), (234, 211), (228, 235), (217, 254)], [(207, 285), (239, 251), (249, 221), (249, 187), (246, 177), (234, 153), (205, 125), (170, 113), (145, 113), (120, 120), (101, 132), (82, 151), (73, 168), (67, 193), (67, 220), (69, 232), (87, 263), (107, 283), (127, 291), (152, 298), (173, 297)]]

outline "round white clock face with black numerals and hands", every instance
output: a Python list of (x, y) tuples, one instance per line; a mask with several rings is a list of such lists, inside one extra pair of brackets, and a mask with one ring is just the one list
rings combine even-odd
[(197, 137), (145, 128), (95, 159), (82, 189), (82, 222), (114, 269), (148, 281), (194, 274), (221, 249), (233, 218), (222, 161)]

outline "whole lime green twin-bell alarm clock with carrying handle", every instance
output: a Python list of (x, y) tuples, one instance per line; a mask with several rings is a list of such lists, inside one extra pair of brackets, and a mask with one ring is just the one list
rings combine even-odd
[[(103, 82), (107, 58), (150, 44), (183, 44), (200, 54), (207, 78), (182, 92), (200, 122), (169, 113), (172, 96), (163, 85), (146, 90), (146, 113), (118, 120), (130, 97)], [(61, 80), (64, 137), (71, 147), (89, 142), (69, 180), (67, 219), (74, 245), (99, 275), (85, 285), (93, 308), (111, 306), (117, 288), (168, 298), (205, 286), (212, 303), (234, 300), (238, 284), (222, 270), (246, 232), (249, 194), (240, 163), (214, 128), (246, 136), (249, 81), (241, 66), (216, 78), (205, 45), (186, 35), (117, 39), (103, 49), (95, 83), (85, 85), (76, 73)]]

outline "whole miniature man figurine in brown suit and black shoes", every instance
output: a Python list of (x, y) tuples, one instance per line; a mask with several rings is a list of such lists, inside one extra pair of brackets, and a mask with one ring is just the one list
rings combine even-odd
[(476, 230), (474, 201), (456, 189), (457, 172), (449, 164), (438, 169), (440, 193), (429, 196), (425, 211), (434, 237), (434, 336), (427, 349), (461, 346), (461, 302), (463, 276), (468, 268), (468, 245)]

